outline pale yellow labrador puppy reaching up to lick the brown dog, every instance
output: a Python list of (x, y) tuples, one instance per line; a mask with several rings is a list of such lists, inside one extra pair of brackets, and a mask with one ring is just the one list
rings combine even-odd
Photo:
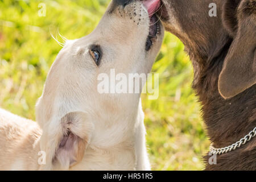
[(164, 34), (148, 13), (158, 2), (115, 0), (90, 35), (68, 40), (36, 105), (37, 123), (0, 110), (0, 169), (150, 169), (141, 93), (100, 93), (98, 76), (150, 72)]

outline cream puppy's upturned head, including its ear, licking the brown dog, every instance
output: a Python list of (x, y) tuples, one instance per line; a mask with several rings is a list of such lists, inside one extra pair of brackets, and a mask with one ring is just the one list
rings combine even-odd
[[(154, 7), (153, 9), (156, 9)], [(163, 39), (156, 16), (141, 1), (110, 3), (96, 29), (68, 40), (57, 55), (36, 105), (46, 152), (41, 169), (69, 169), (80, 162), (93, 135), (95, 122), (132, 108), (139, 94), (101, 94), (98, 76), (148, 73)]]

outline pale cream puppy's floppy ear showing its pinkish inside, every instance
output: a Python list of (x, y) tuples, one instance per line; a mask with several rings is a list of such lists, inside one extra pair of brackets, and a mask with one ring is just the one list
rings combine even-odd
[(46, 165), (42, 170), (68, 170), (79, 163), (90, 142), (93, 124), (86, 121), (84, 113), (66, 114), (59, 121), (51, 121), (44, 127), (41, 150), (46, 152)]

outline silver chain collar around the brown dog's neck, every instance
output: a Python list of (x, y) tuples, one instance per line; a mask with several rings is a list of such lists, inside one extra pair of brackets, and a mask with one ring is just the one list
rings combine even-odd
[(237, 141), (236, 143), (233, 143), (228, 147), (214, 148), (212, 143), (210, 144), (210, 153), (221, 155), (224, 153), (231, 152), (232, 150), (236, 150), (236, 148), (239, 148), (242, 144), (249, 142), (251, 138), (255, 137), (255, 135), (256, 135), (256, 127), (252, 131), (250, 131), (249, 134), (245, 135), (245, 137), (241, 138), (239, 141)]

